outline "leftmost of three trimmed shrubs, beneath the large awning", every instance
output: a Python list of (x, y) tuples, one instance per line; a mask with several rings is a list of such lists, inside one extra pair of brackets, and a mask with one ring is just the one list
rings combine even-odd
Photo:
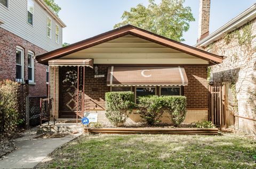
[(124, 125), (134, 106), (133, 92), (106, 92), (105, 98), (106, 117), (108, 120), (116, 126)]

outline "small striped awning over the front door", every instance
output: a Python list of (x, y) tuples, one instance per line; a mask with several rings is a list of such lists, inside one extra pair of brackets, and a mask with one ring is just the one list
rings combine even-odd
[(50, 60), (49, 66), (87, 66), (93, 68), (92, 59), (59, 59), (59, 60)]

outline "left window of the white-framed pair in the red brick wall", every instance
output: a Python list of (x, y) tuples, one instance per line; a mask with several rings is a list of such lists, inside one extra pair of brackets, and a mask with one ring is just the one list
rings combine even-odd
[(23, 82), (24, 79), (24, 50), (17, 46), (16, 48), (16, 80)]

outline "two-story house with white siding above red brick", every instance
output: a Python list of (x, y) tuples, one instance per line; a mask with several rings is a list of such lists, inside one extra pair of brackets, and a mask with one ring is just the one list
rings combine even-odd
[(46, 96), (47, 66), (34, 56), (62, 47), (64, 27), (42, 0), (1, 0), (0, 80), (29, 80), (30, 96)]

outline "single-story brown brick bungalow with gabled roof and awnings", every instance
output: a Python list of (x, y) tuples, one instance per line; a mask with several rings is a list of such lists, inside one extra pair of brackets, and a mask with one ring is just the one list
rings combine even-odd
[[(102, 123), (108, 123), (108, 91), (133, 91), (134, 100), (146, 95), (184, 95), (185, 122), (207, 120), (207, 66), (222, 63), (221, 56), (131, 25), (53, 50), (36, 60), (51, 68), (50, 96), (56, 119), (72, 119), (84, 112), (94, 113)], [(166, 116), (162, 122), (170, 122)], [(129, 122), (140, 120), (138, 114), (132, 114)]]

